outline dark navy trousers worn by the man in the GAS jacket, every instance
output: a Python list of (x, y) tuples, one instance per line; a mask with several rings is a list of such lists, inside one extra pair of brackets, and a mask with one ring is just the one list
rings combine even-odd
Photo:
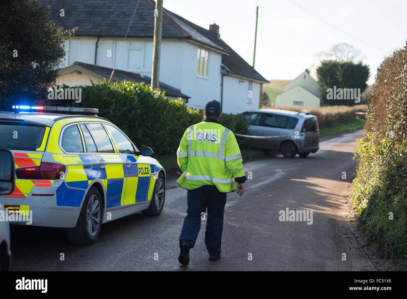
[[(179, 236), (179, 246), (188, 243), (193, 248), (201, 229), (201, 222), (206, 221), (205, 245), (210, 256), (221, 254), (223, 230), (223, 212), (225, 211), (226, 193), (219, 192), (214, 185), (204, 185), (188, 190), (187, 214)], [(208, 219), (202, 219), (202, 213), (208, 208)], [(205, 215), (206, 216), (206, 215)]]

